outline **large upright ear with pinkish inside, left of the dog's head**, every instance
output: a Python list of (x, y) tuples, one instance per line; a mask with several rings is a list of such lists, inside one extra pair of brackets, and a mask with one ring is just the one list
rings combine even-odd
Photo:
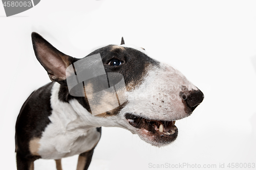
[(35, 56), (46, 69), (51, 81), (63, 82), (66, 80), (66, 68), (72, 64), (73, 57), (58, 51), (52, 44), (39, 34), (31, 34)]

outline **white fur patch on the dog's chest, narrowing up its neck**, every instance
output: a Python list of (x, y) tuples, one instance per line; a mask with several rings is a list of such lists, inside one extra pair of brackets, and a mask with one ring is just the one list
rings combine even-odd
[(89, 151), (100, 139), (96, 127), (87, 125), (71, 104), (59, 101), (59, 86), (58, 83), (53, 85), (51, 96), (53, 110), (49, 116), (51, 123), (46, 127), (39, 141), (38, 154), (44, 159), (60, 159)]

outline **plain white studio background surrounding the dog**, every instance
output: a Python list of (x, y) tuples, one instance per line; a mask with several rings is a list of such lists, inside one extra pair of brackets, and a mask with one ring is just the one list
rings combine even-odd
[[(167, 147), (103, 128), (89, 169), (153, 169), (149, 163), (216, 164), (215, 169), (225, 163), (227, 169), (228, 163), (256, 163), (255, 6), (255, 1), (42, 0), (6, 17), (0, 5), (0, 169), (16, 168), (19, 109), (50, 81), (34, 56), (33, 31), (77, 58), (119, 44), (123, 36), (204, 92), (194, 113), (176, 122), (178, 138)], [(77, 156), (62, 159), (63, 169), (75, 169), (76, 162)], [(36, 160), (35, 169), (55, 169), (55, 162)]]

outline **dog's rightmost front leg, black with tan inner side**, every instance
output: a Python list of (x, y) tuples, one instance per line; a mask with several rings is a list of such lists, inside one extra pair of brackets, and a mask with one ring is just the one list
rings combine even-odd
[(87, 170), (92, 157), (93, 157), (94, 148), (88, 152), (81, 153), (78, 157), (76, 170)]

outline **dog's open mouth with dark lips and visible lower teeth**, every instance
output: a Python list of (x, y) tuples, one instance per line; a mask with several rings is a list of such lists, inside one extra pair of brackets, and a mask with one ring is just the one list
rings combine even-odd
[(131, 113), (126, 113), (125, 118), (131, 126), (139, 129), (143, 136), (154, 142), (168, 144), (177, 138), (178, 129), (175, 121), (147, 119)]

